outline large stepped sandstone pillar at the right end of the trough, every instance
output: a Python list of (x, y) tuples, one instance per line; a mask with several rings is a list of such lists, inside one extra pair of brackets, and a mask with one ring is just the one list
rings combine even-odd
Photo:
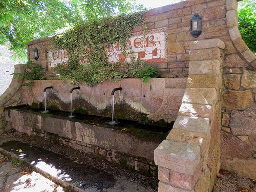
[(159, 191), (209, 191), (220, 168), (220, 92), (222, 51), (219, 39), (190, 44), (187, 88), (179, 116), (156, 148)]

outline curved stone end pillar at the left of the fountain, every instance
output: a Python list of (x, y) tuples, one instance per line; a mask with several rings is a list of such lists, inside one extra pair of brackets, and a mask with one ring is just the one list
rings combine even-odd
[(9, 128), (5, 120), (4, 108), (7, 106), (18, 105), (20, 97), (20, 89), (24, 81), (24, 74), (27, 65), (18, 64), (15, 65), (14, 73), (21, 73), (22, 77), (13, 77), (9, 88), (0, 96), (0, 135), (7, 131)]

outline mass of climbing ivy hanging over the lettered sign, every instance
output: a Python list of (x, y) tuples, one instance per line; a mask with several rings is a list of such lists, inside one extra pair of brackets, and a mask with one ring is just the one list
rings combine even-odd
[[(138, 70), (145, 67), (145, 63), (135, 58), (127, 44), (132, 35), (129, 31), (135, 27), (142, 26), (146, 33), (143, 13), (79, 21), (72, 29), (54, 36), (54, 44), (58, 49), (66, 49), (69, 56), (69, 61), (55, 67), (59, 78), (68, 79), (72, 84), (86, 82), (91, 86), (107, 79), (139, 78)], [(129, 56), (131, 61), (109, 62), (108, 49), (114, 44), (118, 44), (124, 58)]]

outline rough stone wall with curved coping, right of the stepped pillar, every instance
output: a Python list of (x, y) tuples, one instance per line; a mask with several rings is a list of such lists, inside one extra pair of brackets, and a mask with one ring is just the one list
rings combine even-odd
[(256, 179), (256, 56), (238, 29), (237, 1), (227, 0), (229, 48), (223, 65), (221, 165)]

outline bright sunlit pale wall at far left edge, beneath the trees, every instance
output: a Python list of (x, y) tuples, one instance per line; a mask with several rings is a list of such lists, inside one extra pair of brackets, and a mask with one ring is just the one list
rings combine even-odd
[(9, 87), (12, 81), (12, 74), (14, 72), (14, 61), (10, 57), (12, 52), (8, 50), (7, 46), (0, 46), (0, 95)]

